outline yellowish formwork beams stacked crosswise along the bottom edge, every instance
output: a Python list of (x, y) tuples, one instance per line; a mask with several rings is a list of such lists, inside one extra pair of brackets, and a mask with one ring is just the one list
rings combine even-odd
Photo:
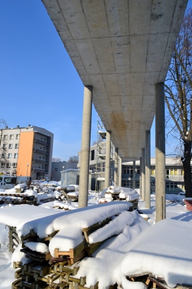
[[(15, 272), (16, 280), (12, 283), (12, 289), (88, 289), (86, 278), (75, 278), (79, 266), (78, 263), (68, 266), (67, 261), (49, 264), (47, 261), (39, 265), (37, 262), (28, 264), (13, 263), (13, 267), (19, 268)], [(98, 289), (98, 283), (90, 286), (90, 289)]]

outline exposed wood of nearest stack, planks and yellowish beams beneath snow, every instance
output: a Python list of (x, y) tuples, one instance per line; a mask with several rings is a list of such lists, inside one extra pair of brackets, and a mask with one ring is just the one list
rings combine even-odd
[[(49, 241), (57, 233), (54, 232), (46, 238), (40, 239), (38, 235), (31, 230), (27, 235), (22, 236), (22, 251), (26, 257), (31, 260), (28, 264), (14, 263), (14, 268), (19, 268), (15, 273), (15, 280), (12, 283), (12, 289), (16, 288), (49, 288), (49, 289), (87, 289), (86, 278), (75, 278), (79, 266), (78, 262), (85, 256), (91, 257), (92, 253), (96, 251), (102, 242), (89, 244), (88, 237), (95, 230), (105, 226), (109, 223), (111, 218), (107, 218), (102, 222), (95, 223), (94, 225), (83, 228), (82, 234), (84, 241), (77, 247), (70, 249), (67, 252), (61, 252), (55, 249), (55, 257), (52, 258), (50, 253), (40, 253), (30, 250), (26, 247), (26, 241), (41, 241), (49, 244)], [(93, 284), (90, 289), (98, 289), (98, 283)]]

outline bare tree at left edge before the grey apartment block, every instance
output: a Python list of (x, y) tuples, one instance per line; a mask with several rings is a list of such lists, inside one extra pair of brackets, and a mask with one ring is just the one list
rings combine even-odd
[(7, 122), (4, 118), (0, 119), (0, 172), (6, 174), (8, 158), (7, 158), (7, 135), (4, 128), (7, 126)]

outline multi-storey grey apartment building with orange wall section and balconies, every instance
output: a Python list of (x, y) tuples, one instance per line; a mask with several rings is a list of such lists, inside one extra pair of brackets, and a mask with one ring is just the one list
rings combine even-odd
[[(53, 134), (34, 125), (4, 128), (1, 141), (0, 172), (33, 179), (50, 178)], [(3, 149), (3, 150), (2, 150)]]

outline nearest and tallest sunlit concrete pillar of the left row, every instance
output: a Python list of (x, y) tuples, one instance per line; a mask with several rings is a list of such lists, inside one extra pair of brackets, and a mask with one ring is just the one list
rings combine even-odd
[(88, 201), (92, 92), (92, 86), (85, 86), (82, 117), (81, 163), (79, 176), (79, 208), (86, 207)]

